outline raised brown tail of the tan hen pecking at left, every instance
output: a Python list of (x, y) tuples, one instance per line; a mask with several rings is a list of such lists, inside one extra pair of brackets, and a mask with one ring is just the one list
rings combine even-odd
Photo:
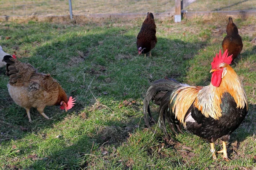
[(2, 61), (6, 62), (6, 75), (10, 77), (10, 85), (26, 85), (30, 77), (36, 73), (36, 69), (32, 65), (20, 62), (10, 55), (4, 56)]

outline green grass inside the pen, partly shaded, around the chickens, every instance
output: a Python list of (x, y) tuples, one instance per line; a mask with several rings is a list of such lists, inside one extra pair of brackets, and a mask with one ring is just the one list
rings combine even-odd
[[(106, 20), (84, 25), (0, 24), (0, 45), (22, 62), (58, 80), (77, 99), (64, 112), (32, 109), (32, 123), (6, 88), (0, 69), (0, 168), (8, 169), (247, 169), (256, 167), (256, 17), (233, 18), (243, 38), (233, 68), (241, 77), (249, 112), (231, 135), (226, 162), (213, 161), (209, 143), (189, 132), (168, 142), (159, 128), (145, 128), (145, 92), (157, 79), (209, 85), (212, 57), (221, 49), (228, 17), (157, 20), (152, 57), (137, 55), (136, 37), (144, 19)], [(6, 40), (5, 37), (11, 37)], [(153, 107), (157, 117), (157, 106)], [(221, 149), (216, 142), (217, 150)]]

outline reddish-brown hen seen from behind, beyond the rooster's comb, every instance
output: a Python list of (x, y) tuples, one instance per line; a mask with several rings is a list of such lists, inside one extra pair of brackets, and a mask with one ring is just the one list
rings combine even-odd
[(233, 54), (233, 60), (243, 49), (242, 38), (238, 34), (238, 29), (231, 17), (228, 18), (227, 36), (222, 41), (222, 48), (223, 51), (228, 50), (229, 54)]

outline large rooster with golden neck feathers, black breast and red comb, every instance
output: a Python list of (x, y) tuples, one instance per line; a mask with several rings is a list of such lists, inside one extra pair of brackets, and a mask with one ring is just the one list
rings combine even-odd
[[(160, 105), (159, 126), (166, 137), (166, 119), (174, 133), (183, 124), (186, 130), (210, 142), (212, 158), (216, 159), (214, 142), (221, 139), (223, 158), (228, 160), (226, 142), (248, 112), (247, 97), (241, 79), (229, 65), (232, 55), (227, 50), (213, 58), (211, 83), (208, 86), (189, 86), (174, 79), (155, 81), (146, 93), (143, 113), (146, 125), (155, 122), (149, 102)], [(148, 114), (147, 114), (148, 112)]]

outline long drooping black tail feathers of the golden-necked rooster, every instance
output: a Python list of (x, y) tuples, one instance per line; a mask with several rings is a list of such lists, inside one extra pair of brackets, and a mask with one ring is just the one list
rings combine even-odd
[[(175, 119), (175, 116), (167, 116), (169, 115), (169, 101), (172, 91), (179, 87), (181, 84), (174, 79), (159, 79), (155, 81), (149, 88), (146, 93), (144, 104), (143, 104), (143, 113), (145, 124), (150, 127), (150, 123), (156, 121), (151, 115), (149, 102), (151, 100), (154, 101), (155, 104), (159, 105), (159, 119), (160, 119), (160, 128), (163, 129), (166, 137), (169, 138), (168, 133), (166, 131), (165, 119), (168, 119), (168, 124), (172, 131), (177, 134), (176, 129), (182, 133), (180, 129), (180, 123)], [(148, 121), (149, 115), (149, 121)], [(171, 118), (173, 117), (173, 118)]]

